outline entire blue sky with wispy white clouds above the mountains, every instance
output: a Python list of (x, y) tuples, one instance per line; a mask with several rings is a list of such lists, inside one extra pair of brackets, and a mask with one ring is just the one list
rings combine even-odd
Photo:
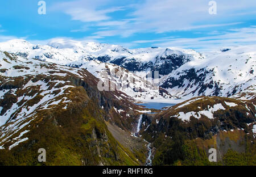
[(0, 6), (0, 41), (53, 38), (98, 41), (128, 48), (196, 50), (256, 44), (256, 1), (216, 0), (8, 0)]

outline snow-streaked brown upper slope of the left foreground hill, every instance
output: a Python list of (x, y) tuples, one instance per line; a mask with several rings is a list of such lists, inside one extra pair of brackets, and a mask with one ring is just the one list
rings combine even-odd
[[(35, 119), (36, 113), (55, 107), (67, 108), (70, 100), (65, 95), (75, 86), (60, 79), (65, 79), (67, 74), (78, 78), (86, 77), (86, 74), (77, 68), (2, 52), (0, 64), (0, 99), (5, 99), (5, 104), (8, 104), (0, 106), (0, 145), (12, 138), (11, 142), (14, 143), (9, 146), (9, 150), (28, 140), (23, 136), (29, 132), (26, 128)], [(50, 79), (47, 80), (47, 77)], [(20, 94), (20, 91), (23, 94)], [(6, 96), (13, 96), (11, 100), (15, 101), (6, 101)], [(35, 98), (38, 99), (31, 102)]]

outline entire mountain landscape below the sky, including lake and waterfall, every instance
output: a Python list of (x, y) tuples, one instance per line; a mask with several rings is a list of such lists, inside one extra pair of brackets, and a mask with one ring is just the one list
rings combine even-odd
[(202, 54), (17, 39), (0, 51), (0, 165), (256, 164), (254, 46)]

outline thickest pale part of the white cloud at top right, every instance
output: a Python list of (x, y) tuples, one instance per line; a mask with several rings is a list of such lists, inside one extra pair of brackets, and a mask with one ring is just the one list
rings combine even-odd
[(248, 14), (255, 11), (256, 2), (217, 1), (217, 15), (210, 15), (209, 1), (205, 0), (146, 0), (138, 4), (131, 14), (137, 19), (133, 28), (147, 29), (148, 32), (167, 32), (209, 28), (232, 24), (237, 11), (246, 10)]

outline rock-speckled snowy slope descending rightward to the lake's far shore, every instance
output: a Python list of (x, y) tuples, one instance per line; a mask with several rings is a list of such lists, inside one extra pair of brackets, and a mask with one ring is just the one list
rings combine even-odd
[[(85, 68), (102, 82), (111, 81), (110, 90), (120, 90), (136, 100), (173, 98), (168, 91), (154, 85), (151, 78), (141, 78), (121, 66), (104, 63), (98, 60), (75, 61), (68, 66)], [(102, 88), (103, 89), (103, 88)]]

